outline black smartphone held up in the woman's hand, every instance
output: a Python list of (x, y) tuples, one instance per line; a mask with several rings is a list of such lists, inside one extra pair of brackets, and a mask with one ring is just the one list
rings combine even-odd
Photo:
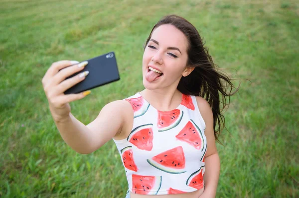
[(80, 93), (120, 79), (114, 52), (109, 52), (86, 61), (88, 64), (83, 70), (68, 78), (86, 70), (89, 71), (89, 74), (83, 81), (66, 90), (65, 94)]

